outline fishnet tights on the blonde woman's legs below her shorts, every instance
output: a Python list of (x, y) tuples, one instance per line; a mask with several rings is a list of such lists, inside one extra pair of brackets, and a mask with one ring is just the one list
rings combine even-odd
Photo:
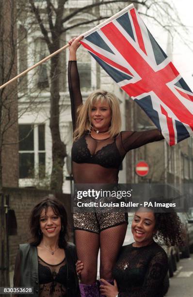
[(100, 278), (112, 280), (113, 265), (120, 247), (122, 247), (127, 224), (101, 231), (99, 234), (75, 230), (78, 259), (84, 264), (81, 271), (81, 282), (93, 284), (97, 276), (97, 256), (100, 247)]

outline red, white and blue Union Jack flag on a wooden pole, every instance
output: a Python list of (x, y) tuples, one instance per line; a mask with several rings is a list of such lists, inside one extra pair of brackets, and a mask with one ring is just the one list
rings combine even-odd
[(81, 44), (141, 106), (170, 146), (193, 134), (193, 93), (133, 4), (84, 34)]

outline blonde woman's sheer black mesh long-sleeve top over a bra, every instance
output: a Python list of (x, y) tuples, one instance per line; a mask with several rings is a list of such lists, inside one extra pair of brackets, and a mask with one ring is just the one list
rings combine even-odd
[[(82, 104), (76, 61), (68, 64), (68, 85), (73, 129), (77, 124), (77, 108)], [(114, 138), (97, 140), (85, 132), (72, 146), (72, 172), (75, 183), (116, 183), (119, 166), (126, 153), (149, 142), (163, 139), (158, 129), (142, 132), (122, 131)]]

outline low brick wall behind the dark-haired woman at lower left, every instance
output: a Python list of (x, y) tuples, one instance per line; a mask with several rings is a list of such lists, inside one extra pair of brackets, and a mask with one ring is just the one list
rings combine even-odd
[[(14, 269), (15, 257), (18, 245), (26, 243), (30, 237), (28, 222), (32, 208), (45, 196), (53, 195), (51, 191), (36, 190), (29, 188), (6, 188), (4, 195), (10, 197), (10, 208), (15, 210), (17, 221), (17, 235), (9, 236), (10, 271)], [(73, 223), (71, 213), (71, 197), (69, 194), (55, 195), (64, 203), (68, 215), (68, 241), (73, 241)]]

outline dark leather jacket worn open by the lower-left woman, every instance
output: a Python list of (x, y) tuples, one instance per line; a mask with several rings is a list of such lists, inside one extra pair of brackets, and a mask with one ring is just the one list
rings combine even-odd
[[(80, 292), (75, 267), (77, 261), (76, 247), (72, 243), (67, 243), (65, 260), (67, 265), (67, 297), (79, 297)], [(37, 248), (30, 244), (19, 245), (14, 271), (14, 286), (33, 287), (33, 296), (39, 296)], [(25, 296), (32, 297), (32, 295)]]

